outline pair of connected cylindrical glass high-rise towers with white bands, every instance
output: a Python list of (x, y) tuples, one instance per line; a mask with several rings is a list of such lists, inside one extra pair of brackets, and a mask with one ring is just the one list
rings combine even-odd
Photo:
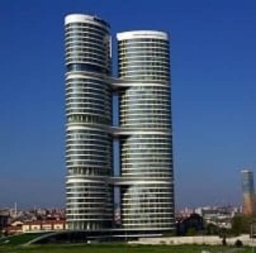
[[(113, 78), (108, 23), (89, 15), (65, 17), (67, 225), (115, 230), (118, 187), (118, 230), (163, 233), (175, 225), (169, 35), (121, 32), (117, 42), (118, 78)], [(118, 176), (113, 161), (120, 161)]]

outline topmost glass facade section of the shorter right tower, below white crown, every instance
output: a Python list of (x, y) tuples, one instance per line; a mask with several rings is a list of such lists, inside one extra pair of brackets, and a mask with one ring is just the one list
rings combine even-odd
[(169, 81), (169, 40), (156, 38), (118, 41), (119, 77)]

